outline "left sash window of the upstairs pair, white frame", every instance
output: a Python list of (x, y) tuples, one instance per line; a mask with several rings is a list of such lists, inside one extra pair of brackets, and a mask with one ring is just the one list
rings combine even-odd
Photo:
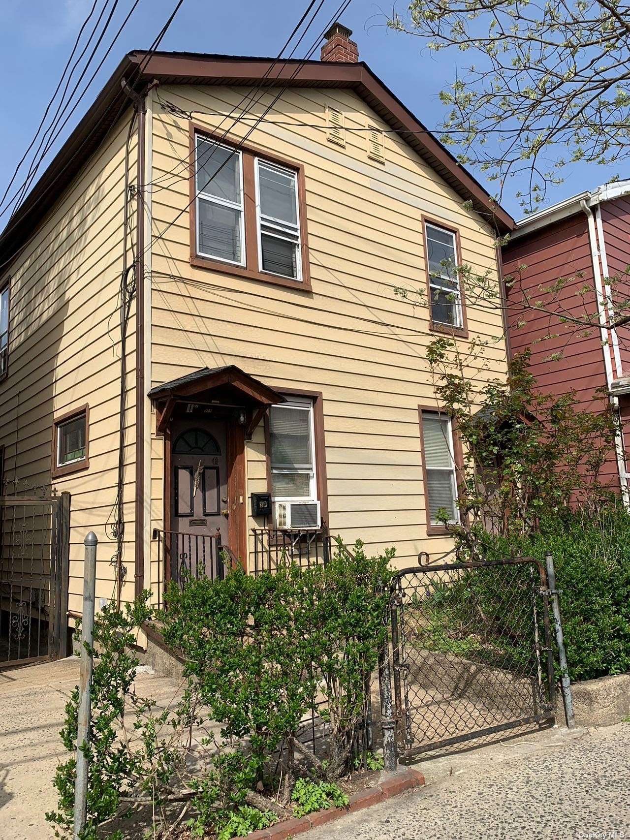
[(196, 135), (197, 254), (245, 265), (243, 157)]

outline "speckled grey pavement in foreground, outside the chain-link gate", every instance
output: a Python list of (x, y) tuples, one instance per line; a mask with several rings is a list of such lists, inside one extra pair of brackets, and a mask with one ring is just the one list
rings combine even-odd
[(414, 766), (427, 776), (423, 790), (308, 840), (630, 838), (630, 723), (553, 729)]

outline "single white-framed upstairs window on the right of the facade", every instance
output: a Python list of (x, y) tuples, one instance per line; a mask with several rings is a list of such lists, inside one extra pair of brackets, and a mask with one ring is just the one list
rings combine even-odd
[(462, 328), (464, 319), (457, 276), (457, 241), (451, 230), (425, 224), (428, 286), (433, 323)]

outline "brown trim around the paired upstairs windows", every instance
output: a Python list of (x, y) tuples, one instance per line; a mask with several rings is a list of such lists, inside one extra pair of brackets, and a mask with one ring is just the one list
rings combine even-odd
[[(195, 169), (197, 166), (197, 146), (195, 137), (201, 134), (203, 137), (220, 141), (222, 145), (238, 147), (242, 153), (243, 160), (243, 213), (245, 227), (245, 265), (229, 265), (221, 260), (211, 260), (197, 254), (197, 186), (195, 183)], [(213, 134), (206, 126), (198, 123), (190, 123), (189, 127), (189, 148), (190, 148), (190, 241), (191, 241), (191, 265), (197, 268), (204, 268), (213, 271), (220, 271), (223, 274), (233, 274), (239, 277), (246, 277), (248, 280), (260, 280), (265, 283), (274, 283), (276, 286), (297, 289), (299, 291), (312, 291), (311, 272), (308, 260), (308, 233), (307, 233), (307, 197), (304, 186), (304, 167), (293, 160), (270, 155), (262, 149), (257, 149), (249, 144), (240, 144), (239, 140), (229, 139), (223, 135)], [(291, 280), (289, 277), (281, 277), (268, 272), (260, 271), (258, 265), (258, 224), (256, 219), (256, 187), (255, 187), (255, 158), (260, 157), (284, 166), (297, 172), (297, 204), (300, 213), (300, 243), (302, 256), (302, 281)]]

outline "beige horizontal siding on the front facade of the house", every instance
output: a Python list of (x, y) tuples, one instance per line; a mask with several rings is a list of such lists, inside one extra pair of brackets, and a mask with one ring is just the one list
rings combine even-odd
[[(160, 87), (208, 129), (244, 96), (229, 87)], [(276, 91), (265, 92), (262, 113)], [(257, 93), (260, 96), (260, 92)], [(344, 113), (345, 148), (327, 141), (326, 107)], [(296, 123), (274, 126), (270, 120)], [(297, 123), (317, 123), (309, 128)], [(192, 267), (189, 260), (188, 123), (156, 106), (152, 194), (151, 382), (204, 365), (235, 364), (270, 386), (323, 392), (329, 521), (370, 551), (395, 545), (398, 564), (449, 548), (427, 538), (417, 419), (435, 403), (426, 361), (428, 310), (396, 296), (425, 293), (425, 214), (459, 228), (465, 263), (496, 278), (490, 228), (395, 134), (385, 163), (366, 152), (365, 125), (386, 129), (353, 92), (287, 90), (249, 144), (305, 167), (312, 294)], [(252, 123), (226, 120), (242, 138)], [(183, 212), (182, 212), (183, 211)], [(181, 215), (180, 215), (181, 214)], [(504, 376), (501, 316), (467, 308), (470, 337), (496, 338), (470, 375)], [(461, 342), (465, 344), (465, 342)], [(155, 424), (154, 424), (155, 428)], [(248, 496), (266, 489), (262, 424), (247, 445)], [(161, 438), (152, 445), (152, 518), (162, 522)], [(249, 509), (249, 498), (246, 500)], [(254, 526), (248, 519), (248, 528)]]

